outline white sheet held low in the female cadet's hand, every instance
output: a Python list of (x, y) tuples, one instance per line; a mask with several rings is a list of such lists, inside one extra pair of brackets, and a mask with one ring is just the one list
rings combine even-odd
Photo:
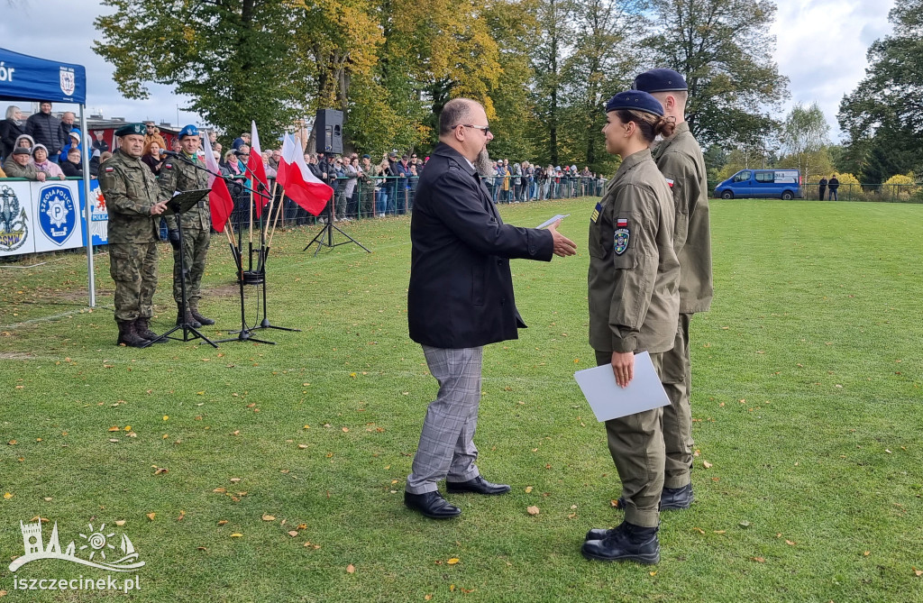
[(647, 352), (635, 355), (634, 379), (626, 388), (618, 387), (610, 364), (578, 370), (574, 379), (600, 422), (670, 404)]

